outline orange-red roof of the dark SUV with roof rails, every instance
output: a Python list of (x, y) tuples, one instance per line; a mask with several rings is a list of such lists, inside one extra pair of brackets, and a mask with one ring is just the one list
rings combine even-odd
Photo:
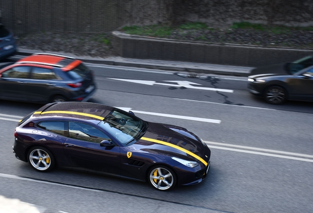
[(77, 67), (81, 63), (82, 61), (68, 56), (50, 53), (35, 53), (31, 56), (27, 56), (23, 59), (18, 60), (15, 64), (47, 65), (62, 68), (63, 71), (69, 71)]

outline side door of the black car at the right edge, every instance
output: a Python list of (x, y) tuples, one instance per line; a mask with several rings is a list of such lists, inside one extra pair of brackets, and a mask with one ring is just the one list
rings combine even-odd
[(313, 68), (290, 78), (288, 84), (290, 99), (313, 101)]

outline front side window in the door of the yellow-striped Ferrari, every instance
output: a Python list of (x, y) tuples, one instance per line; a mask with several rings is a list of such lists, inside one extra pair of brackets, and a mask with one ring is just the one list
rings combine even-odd
[(111, 141), (103, 132), (88, 124), (69, 122), (68, 131), (69, 137), (72, 139), (96, 143), (100, 143), (104, 140)]

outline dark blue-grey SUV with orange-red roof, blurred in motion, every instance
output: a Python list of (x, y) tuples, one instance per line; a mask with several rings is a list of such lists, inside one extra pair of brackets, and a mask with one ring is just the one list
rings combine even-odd
[(75, 58), (36, 53), (0, 65), (0, 99), (33, 103), (87, 101), (93, 72)]

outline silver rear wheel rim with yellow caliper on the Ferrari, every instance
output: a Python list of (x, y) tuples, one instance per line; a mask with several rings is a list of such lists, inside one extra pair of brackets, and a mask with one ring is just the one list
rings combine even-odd
[(51, 157), (49, 154), (42, 149), (34, 149), (29, 155), (31, 166), (35, 170), (45, 171), (48, 170), (51, 165)]

